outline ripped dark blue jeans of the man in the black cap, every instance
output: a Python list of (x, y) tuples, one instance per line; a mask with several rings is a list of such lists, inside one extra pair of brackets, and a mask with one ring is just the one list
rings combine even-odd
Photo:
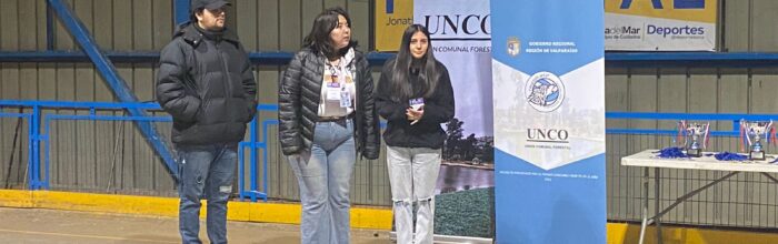
[(200, 200), (208, 200), (206, 223), (211, 243), (227, 243), (227, 201), (238, 163), (237, 144), (181, 146), (179, 150), (181, 197), (178, 212), (181, 241), (201, 243)]

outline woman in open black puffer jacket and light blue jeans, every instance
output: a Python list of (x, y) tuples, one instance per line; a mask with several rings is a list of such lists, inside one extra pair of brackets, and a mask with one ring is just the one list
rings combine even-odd
[(300, 185), (302, 243), (349, 243), (357, 154), (378, 159), (378, 114), (366, 57), (341, 8), (313, 21), (279, 84), (279, 134)]

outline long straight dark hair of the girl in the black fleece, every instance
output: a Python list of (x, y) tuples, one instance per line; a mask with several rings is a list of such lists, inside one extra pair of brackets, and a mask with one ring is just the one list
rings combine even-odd
[[(410, 53), (410, 39), (416, 32), (421, 32), (427, 35), (427, 53), (420, 60), (413, 60)], [(435, 92), (438, 85), (438, 70), (436, 69), (437, 60), (432, 54), (432, 40), (429, 38), (429, 31), (421, 24), (412, 24), (406, 28), (402, 33), (402, 42), (399, 52), (395, 59), (395, 65), (391, 69), (390, 88), (392, 90), (391, 99), (395, 101), (406, 101), (410, 98), (421, 95), (429, 98)], [(410, 84), (410, 70), (419, 69), (419, 84), (421, 90), (413, 92)]]

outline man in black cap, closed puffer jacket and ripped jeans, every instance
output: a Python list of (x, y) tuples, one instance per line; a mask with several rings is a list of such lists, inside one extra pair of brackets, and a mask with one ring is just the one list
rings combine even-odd
[(157, 101), (173, 118), (178, 151), (179, 230), (200, 243), (200, 199), (208, 201), (211, 243), (227, 243), (227, 202), (238, 142), (255, 115), (257, 83), (238, 35), (225, 27), (223, 0), (192, 0), (191, 20), (162, 49)]

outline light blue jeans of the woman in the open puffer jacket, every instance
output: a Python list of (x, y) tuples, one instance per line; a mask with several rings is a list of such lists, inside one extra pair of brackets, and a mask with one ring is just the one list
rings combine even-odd
[(357, 161), (353, 123), (319, 122), (311, 150), (289, 155), (302, 202), (302, 243), (349, 243), (349, 187)]

